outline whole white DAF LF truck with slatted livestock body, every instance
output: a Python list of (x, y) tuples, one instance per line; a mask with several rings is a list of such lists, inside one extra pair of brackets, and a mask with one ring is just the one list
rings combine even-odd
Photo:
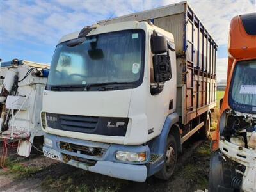
[(44, 90), (44, 155), (126, 180), (169, 179), (190, 136), (209, 136), (217, 45), (188, 3), (63, 36)]

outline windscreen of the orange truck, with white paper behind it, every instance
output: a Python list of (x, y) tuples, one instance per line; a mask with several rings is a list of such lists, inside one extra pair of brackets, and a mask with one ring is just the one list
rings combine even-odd
[(256, 113), (256, 60), (236, 64), (228, 101), (235, 111)]

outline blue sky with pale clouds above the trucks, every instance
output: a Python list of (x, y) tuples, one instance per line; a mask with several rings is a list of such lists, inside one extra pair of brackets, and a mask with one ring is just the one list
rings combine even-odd
[[(1, 1), (0, 58), (51, 63), (58, 40), (67, 33), (98, 20), (177, 2), (180, 1)], [(191, 0), (189, 3), (219, 45), (217, 77), (218, 81), (225, 79), (230, 20), (235, 15), (256, 12), (256, 0)]]

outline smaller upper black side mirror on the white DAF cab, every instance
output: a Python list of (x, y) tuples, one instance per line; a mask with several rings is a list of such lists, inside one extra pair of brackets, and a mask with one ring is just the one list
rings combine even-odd
[(164, 36), (152, 36), (150, 40), (152, 54), (162, 54), (168, 51)]

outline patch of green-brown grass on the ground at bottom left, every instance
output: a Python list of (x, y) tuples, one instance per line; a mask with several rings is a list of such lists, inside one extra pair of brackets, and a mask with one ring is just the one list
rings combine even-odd
[(40, 172), (40, 168), (35, 168), (33, 166), (25, 166), (22, 163), (11, 161), (10, 159), (6, 159), (6, 163), (4, 165), (7, 170), (3, 170), (0, 172), (1, 175), (12, 174), (15, 179), (22, 179), (26, 177), (31, 177), (35, 173)]

